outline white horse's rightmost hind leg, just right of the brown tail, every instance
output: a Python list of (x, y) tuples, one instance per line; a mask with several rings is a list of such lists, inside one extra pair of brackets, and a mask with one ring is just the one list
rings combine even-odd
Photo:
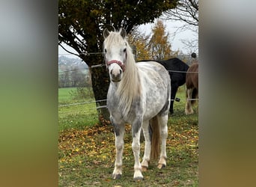
[(158, 123), (159, 123), (159, 131), (160, 131), (160, 137), (161, 137), (161, 152), (159, 157), (159, 162), (157, 165), (157, 168), (162, 169), (166, 166), (166, 139), (168, 136), (168, 115), (158, 115), (157, 116)]

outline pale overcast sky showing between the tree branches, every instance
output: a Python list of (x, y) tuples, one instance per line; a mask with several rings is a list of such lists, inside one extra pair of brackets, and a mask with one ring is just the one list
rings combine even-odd
[[(171, 20), (162, 20), (162, 21), (165, 24), (166, 30), (169, 33), (169, 41), (171, 43), (171, 50), (173, 50), (173, 51), (180, 50), (183, 52), (183, 54), (189, 55), (189, 51), (184, 47), (181, 40), (194, 40), (198, 36), (195, 36), (195, 33), (193, 33), (190, 30), (182, 31), (182, 32), (179, 32), (174, 35), (177, 28), (180, 27), (181, 25), (183, 25), (183, 22), (177, 22), (177, 21), (174, 22)], [(153, 23), (140, 25), (138, 29), (139, 29), (139, 31), (141, 31), (141, 33), (150, 34), (151, 29), (153, 28), (153, 25), (154, 25)], [(69, 51), (76, 53), (76, 51), (74, 49), (70, 48), (69, 46), (65, 46), (65, 47), (67, 47), (67, 49)], [(65, 55), (69, 58), (78, 58), (76, 55), (67, 54), (67, 52), (61, 48), (61, 46), (58, 46), (58, 55)]]

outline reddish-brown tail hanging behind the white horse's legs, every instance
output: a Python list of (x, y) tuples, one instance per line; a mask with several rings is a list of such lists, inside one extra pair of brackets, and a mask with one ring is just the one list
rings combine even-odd
[(152, 131), (150, 158), (158, 159), (160, 153), (160, 132), (157, 116), (150, 120), (150, 129)]

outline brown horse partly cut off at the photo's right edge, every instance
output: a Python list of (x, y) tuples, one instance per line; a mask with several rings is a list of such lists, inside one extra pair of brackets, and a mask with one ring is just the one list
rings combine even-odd
[(193, 63), (186, 72), (186, 106), (185, 113), (193, 114), (192, 105), (198, 99), (198, 63)]

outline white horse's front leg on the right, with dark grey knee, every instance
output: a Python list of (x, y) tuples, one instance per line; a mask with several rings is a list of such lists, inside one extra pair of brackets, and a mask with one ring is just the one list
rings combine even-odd
[(141, 137), (141, 123), (142, 120), (138, 117), (134, 123), (132, 123), (132, 152), (134, 155), (134, 180), (143, 180), (143, 175), (141, 174), (141, 163), (139, 162), (140, 153), (140, 137)]

